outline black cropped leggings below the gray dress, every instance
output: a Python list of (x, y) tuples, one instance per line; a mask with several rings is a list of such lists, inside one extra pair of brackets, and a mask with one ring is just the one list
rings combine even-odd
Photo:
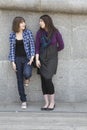
[(45, 94), (54, 94), (54, 85), (52, 79), (46, 79), (41, 76), (42, 92)]

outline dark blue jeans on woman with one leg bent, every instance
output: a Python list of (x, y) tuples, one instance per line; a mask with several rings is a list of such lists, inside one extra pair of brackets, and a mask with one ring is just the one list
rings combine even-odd
[(32, 66), (27, 63), (29, 60), (26, 57), (16, 57), (17, 68), (17, 84), (20, 100), (26, 102), (26, 94), (24, 89), (24, 78), (28, 79), (32, 76)]

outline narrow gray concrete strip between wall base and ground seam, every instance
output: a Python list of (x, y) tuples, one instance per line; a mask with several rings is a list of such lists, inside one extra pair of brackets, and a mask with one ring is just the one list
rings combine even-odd
[[(43, 102), (28, 102), (28, 108), (26, 110), (21, 109), (21, 103), (9, 103), (0, 104), (0, 112), (42, 112), (40, 108), (43, 106)], [(87, 102), (80, 103), (58, 103), (54, 112), (65, 113), (87, 113)]]

